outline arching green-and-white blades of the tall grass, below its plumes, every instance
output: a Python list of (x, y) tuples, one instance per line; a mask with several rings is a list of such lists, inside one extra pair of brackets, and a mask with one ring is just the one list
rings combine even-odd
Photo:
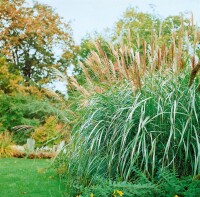
[(71, 184), (101, 176), (132, 181), (135, 169), (154, 180), (158, 170), (200, 173), (200, 94), (188, 70), (147, 77), (141, 91), (113, 86), (89, 99), (63, 156)]

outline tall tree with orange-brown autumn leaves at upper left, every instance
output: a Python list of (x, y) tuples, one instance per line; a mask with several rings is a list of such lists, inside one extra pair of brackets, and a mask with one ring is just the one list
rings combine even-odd
[(27, 83), (51, 81), (53, 66), (66, 69), (57, 64), (56, 51), (71, 57), (75, 49), (70, 25), (50, 6), (36, 1), (32, 5), (25, 0), (0, 1), (0, 54)]

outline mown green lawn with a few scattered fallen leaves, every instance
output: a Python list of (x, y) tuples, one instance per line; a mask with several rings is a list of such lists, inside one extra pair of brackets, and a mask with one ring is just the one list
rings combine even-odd
[(64, 184), (50, 160), (0, 159), (0, 197), (61, 197)]

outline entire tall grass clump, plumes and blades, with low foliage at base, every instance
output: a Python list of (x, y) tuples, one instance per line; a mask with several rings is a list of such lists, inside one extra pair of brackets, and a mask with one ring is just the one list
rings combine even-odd
[[(104, 51), (96, 42), (80, 63), (85, 84), (68, 77), (83, 96), (82, 114), (57, 162), (71, 196), (113, 190), (127, 197), (190, 196), (196, 187), (178, 179), (200, 174), (200, 34), (183, 25), (167, 44), (153, 32), (151, 43), (138, 36), (134, 47), (127, 40), (107, 43)], [(175, 181), (165, 182), (166, 171)]]

